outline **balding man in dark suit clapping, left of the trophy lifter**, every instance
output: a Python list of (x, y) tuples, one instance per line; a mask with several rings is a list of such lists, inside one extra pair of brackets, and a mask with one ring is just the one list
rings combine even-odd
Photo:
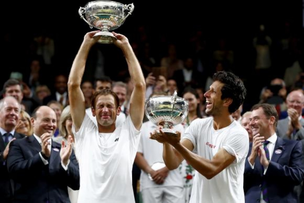
[(54, 110), (38, 107), (32, 115), (34, 134), (14, 140), (9, 149), (9, 174), (18, 184), (13, 202), (60, 203), (70, 202), (67, 186), (79, 189), (79, 166), (67, 144), (57, 144), (51, 137), (57, 121)]

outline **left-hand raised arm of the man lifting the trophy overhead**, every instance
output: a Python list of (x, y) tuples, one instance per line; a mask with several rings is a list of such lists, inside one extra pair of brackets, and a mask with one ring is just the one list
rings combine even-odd
[(77, 132), (81, 127), (81, 123), (85, 117), (85, 97), (81, 91), (80, 85), (83, 73), (85, 71), (85, 63), (91, 47), (97, 42), (98, 37), (93, 38), (95, 33), (100, 31), (88, 32), (78, 50), (74, 59), (67, 87), (69, 91), (69, 101), (71, 106), (71, 117)]

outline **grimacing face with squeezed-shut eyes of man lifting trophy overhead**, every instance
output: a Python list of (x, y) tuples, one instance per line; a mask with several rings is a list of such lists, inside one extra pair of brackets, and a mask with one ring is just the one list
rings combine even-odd
[(92, 115), (96, 116), (97, 123), (101, 126), (115, 126), (119, 112), (120, 107), (117, 107), (111, 94), (98, 96), (96, 107), (92, 109)]

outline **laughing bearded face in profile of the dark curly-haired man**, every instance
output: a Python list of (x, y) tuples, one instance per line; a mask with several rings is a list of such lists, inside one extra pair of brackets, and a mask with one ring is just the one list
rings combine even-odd
[(221, 99), (223, 83), (215, 81), (210, 89), (204, 94), (206, 97), (206, 113), (210, 116), (219, 116), (223, 109), (223, 100)]

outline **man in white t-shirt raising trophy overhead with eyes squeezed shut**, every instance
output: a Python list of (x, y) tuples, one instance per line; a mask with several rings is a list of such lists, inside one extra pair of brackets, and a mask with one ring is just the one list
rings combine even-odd
[(85, 113), (80, 84), (89, 50), (100, 38), (98, 35), (94, 37), (98, 32), (85, 35), (68, 80), (72, 130), (80, 168), (78, 203), (134, 203), (132, 165), (144, 115), (145, 79), (128, 39), (112, 32), (117, 38), (113, 43), (126, 57), (134, 90), (130, 114), (117, 128), (115, 122), (120, 113), (118, 96), (107, 89), (95, 92), (91, 108), (97, 127)]

